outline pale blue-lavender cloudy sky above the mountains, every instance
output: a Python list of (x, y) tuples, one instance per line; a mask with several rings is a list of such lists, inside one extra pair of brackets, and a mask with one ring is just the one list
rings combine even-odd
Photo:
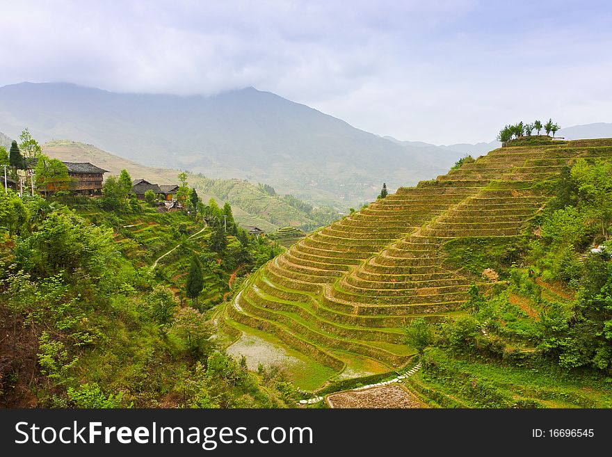
[(7, 1), (0, 86), (254, 86), (435, 144), (612, 122), (610, 1)]

